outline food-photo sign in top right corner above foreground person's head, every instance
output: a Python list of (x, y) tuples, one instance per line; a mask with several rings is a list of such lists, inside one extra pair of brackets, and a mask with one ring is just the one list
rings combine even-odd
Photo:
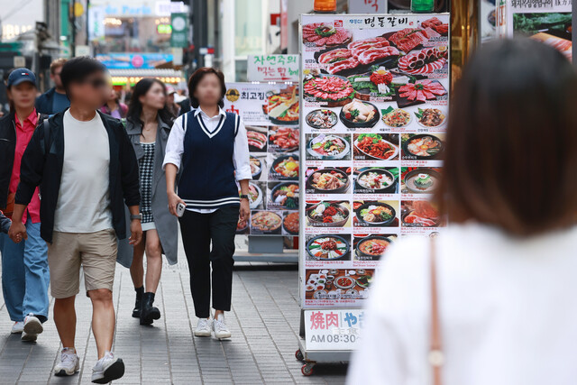
[(498, 0), (500, 37), (529, 37), (572, 60), (572, 0)]

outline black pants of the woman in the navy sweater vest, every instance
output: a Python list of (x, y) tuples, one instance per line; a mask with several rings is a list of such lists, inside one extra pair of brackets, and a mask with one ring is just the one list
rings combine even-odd
[(190, 291), (198, 318), (210, 316), (211, 262), (213, 307), (224, 311), (231, 309), (234, 234), (238, 215), (239, 206), (224, 206), (211, 214), (187, 210), (179, 218), (190, 271)]

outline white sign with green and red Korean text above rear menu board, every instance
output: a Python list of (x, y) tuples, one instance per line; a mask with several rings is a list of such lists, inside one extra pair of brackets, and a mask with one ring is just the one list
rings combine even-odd
[(249, 55), (249, 81), (298, 81), (298, 55)]

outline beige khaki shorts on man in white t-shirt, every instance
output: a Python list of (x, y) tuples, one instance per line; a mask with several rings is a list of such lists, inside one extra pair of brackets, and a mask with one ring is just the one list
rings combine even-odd
[(54, 298), (76, 296), (80, 287), (80, 265), (87, 292), (109, 289), (114, 284), (118, 245), (114, 230), (96, 233), (53, 232), (48, 244), (50, 294)]

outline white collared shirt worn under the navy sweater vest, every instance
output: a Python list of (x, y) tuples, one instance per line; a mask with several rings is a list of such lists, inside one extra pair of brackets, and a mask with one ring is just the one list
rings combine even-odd
[[(191, 109), (195, 117), (200, 115), (203, 122), (206, 125), (206, 129), (213, 133), (220, 121), (221, 115), (226, 116), (226, 112), (221, 107), (218, 107), (218, 115), (210, 117), (200, 109)], [(168, 163), (174, 164), (177, 169), (180, 169), (180, 162), (182, 161), (182, 154), (184, 153), (184, 135), (187, 132), (187, 128), (183, 126), (184, 115), (180, 115), (177, 120), (172, 124), (172, 129), (170, 130), (169, 140), (166, 143), (166, 155), (164, 156), (164, 162), (162, 163), (162, 170), (166, 167)], [(238, 126), (238, 133), (234, 137), (234, 151), (233, 151), (233, 163), (234, 163), (234, 173), (236, 180), (252, 179), (251, 171), (251, 159), (249, 154), (249, 141), (246, 136), (246, 128), (244, 127), (243, 119), (241, 119)], [(197, 213), (214, 213), (216, 209), (192, 209), (188, 210), (196, 211)]]

